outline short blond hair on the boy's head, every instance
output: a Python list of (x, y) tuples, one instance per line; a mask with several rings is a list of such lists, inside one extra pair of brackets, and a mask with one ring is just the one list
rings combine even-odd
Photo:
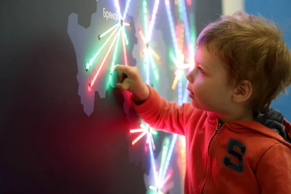
[(227, 64), (231, 81), (252, 83), (252, 109), (265, 110), (291, 84), (291, 51), (274, 22), (237, 12), (210, 23), (198, 36)]

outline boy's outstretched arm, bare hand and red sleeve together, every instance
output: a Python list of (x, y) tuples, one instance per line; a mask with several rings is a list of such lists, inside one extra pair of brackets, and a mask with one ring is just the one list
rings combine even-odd
[(156, 129), (185, 135), (185, 122), (193, 111), (190, 103), (178, 106), (174, 102), (167, 102), (146, 85), (136, 67), (115, 65), (113, 69), (118, 71), (119, 83), (116, 87), (132, 93), (131, 102), (146, 123)]

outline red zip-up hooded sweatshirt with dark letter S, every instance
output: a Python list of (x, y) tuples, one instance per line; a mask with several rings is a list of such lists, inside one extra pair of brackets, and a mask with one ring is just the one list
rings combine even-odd
[(185, 194), (291, 194), (291, 124), (280, 112), (222, 125), (215, 113), (149, 89), (144, 103), (131, 103), (151, 127), (185, 135)]

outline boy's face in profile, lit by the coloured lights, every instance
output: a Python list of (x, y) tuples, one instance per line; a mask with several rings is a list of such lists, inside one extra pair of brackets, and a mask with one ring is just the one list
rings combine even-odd
[(227, 113), (232, 105), (234, 85), (229, 83), (225, 64), (204, 46), (195, 51), (195, 66), (187, 74), (192, 105), (214, 113)]

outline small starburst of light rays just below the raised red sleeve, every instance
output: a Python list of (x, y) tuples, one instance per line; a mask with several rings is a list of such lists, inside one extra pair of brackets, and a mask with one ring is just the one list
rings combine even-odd
[(157, 131), (155, 131), (153, 128), (149, 127), (148, 124), (146, 125), (140, 125), (141, 128), (140, 129), (131, 129), (130, 133), (138, 133), (138, 132), (142, 132), (136, 139), (134, 139), (131, 142), (131, 145), (136, 144), (140, 139), (142, 139), (145, 135), (146, 135), (146, 143), (149, 144), (151, 142), (153, 149), (155, 150), (155, 144), (154, 144), (154, 139), (152, 135), (157, 135)]

